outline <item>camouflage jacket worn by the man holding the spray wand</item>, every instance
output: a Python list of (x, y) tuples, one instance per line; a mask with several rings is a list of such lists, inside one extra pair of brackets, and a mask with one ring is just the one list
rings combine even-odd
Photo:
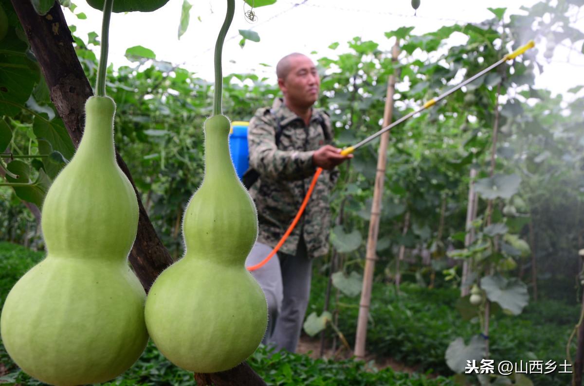
[[(282, 129), (277, 148), (276, 120)], [(332, 139), (331, 120), (324, 111), (313, 108), (310, 125), (306, 127), (302, 118), (280, 98), (274, 100), (272, 109), (258, 109), (249, 122), (249, 166), (260, 174), (250, 190), (258, 209), (260, 243), (276, 246), (296, 216), (317, 169), (312, 154), (331, 142), (326, 141), (324, 128)], [(303, 234), (310, 258), (326, 254), (331, 223), (329, 199), (337, 178), (336, 170), (322, 171), (304, 214), (280, 251), (296, 254)]]

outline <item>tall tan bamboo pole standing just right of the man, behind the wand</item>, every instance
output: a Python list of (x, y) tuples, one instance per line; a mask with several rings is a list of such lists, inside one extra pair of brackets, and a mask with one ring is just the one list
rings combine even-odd
[[(399, 55), (399, 39), (395, 39), (392, 50), (392, 62), (397, 62)], [(391, 75), (387, 84), (387, 98), (385, 99), (385, 111), (383, 114), (383, 127), (391, 123), (394, 110), (395, 75)], [(363, 287), (359, 302), (359, 317), (357, 318), (357, 333), (355, 337), (354, 355), (357, 359), (365, 356), (365, 342), (367, 339), (367, 321), (369, 320), (369, 304), (371, 303), (371, 286), (373, 286), (373, 271), (377, 259), (377, 234), (379, 231), (379, 219), (381, 213), (381, 198), (383, 196), (383, 183), (385, 178), (385, 164), (387, 162), (387, 142), (389, 132), (381, 135), (379, 153), (377, 157), (377, 173), (373, 191), (373, 205), (371, 205), (371, 219), (369, 221), (369, 237), (367, 237), (367, 252), (365, 255), (365, 272), (363, 275)]]

